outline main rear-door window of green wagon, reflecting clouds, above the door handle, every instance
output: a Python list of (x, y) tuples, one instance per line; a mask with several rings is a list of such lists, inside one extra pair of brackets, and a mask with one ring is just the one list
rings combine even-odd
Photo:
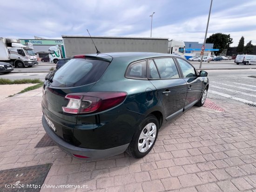
[(180, 77), (173, 58), (155, 59), (155, 64), (161, 79), (175, 79)]

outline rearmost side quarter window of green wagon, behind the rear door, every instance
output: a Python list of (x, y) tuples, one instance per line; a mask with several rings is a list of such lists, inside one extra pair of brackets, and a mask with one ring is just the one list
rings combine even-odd
[(130, 65), (126, 72), (127, 78), (146, 79), (147, 78), (147, 62), (141, 61)]

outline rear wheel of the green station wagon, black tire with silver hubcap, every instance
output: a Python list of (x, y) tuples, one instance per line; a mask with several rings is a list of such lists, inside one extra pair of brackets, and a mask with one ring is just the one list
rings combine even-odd
[(158, 130), (158, 120), (154, 115), (148, 115), (135, 131), (126, 152), (136, 159), (146, 156), (155, 145)]

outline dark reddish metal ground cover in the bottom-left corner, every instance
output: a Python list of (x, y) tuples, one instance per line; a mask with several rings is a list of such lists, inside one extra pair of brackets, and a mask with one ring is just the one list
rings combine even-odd
[(39, 192), (52, 164), (0, 171), (1, 192)]

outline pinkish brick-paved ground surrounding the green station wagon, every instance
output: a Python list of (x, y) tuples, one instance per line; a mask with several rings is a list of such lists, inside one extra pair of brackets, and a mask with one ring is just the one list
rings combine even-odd
[(0, 170), (53, 163), (44, 184), (88, 185), (40, 192), (256, 192), (256, 107), (210, 100), (162, 127), (143, 159), (87, 162), (34, 148), (45, 135), (40, 101), (41, 89), (0, 101)]

